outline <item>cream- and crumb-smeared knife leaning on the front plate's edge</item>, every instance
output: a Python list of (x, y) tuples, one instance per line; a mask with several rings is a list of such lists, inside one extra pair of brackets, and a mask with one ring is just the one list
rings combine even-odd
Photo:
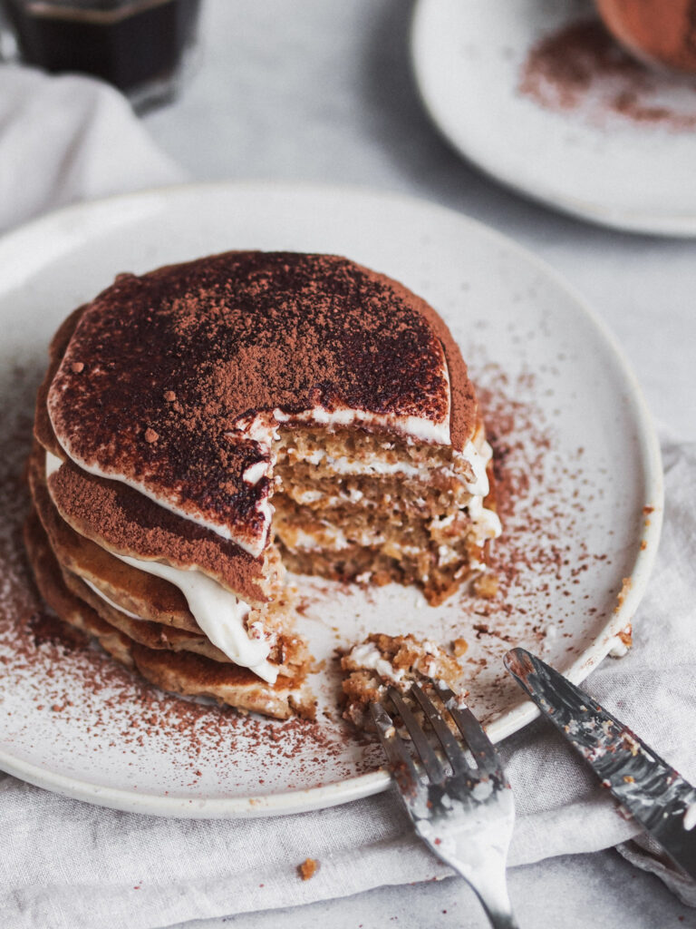
[(696, 878), (696, 790), (690, 783), (545, 661), (524, 648), (513, 648), (505, 666), (585, 758), (602, 786)]

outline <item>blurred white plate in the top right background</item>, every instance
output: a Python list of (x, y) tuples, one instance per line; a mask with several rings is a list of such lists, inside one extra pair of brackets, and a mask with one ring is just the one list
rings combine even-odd
[[(696, 130), (552, 111), (519, 91), (542, 36), (593, 16), (588, 0), (419, 0), (411, 33), (421, 98), (445, 137), (509, 187), (602, 225), (696, 235)], [(661, 85), (662, 86), (662, 85)], [(684, 83), (651, 101), (696, 115)]]

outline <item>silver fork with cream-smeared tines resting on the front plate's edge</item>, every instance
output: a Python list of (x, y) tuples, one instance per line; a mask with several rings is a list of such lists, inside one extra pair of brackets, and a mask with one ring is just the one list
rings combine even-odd
[(438, 757), (394, 687), (387, 693), (419, 755), (421, 771), (384, 705), (370, 703), (382, 748), (419, 838), (469, 883), (494, 929), (517, 929), (505, 877), (515, 818), (512, 791), (493, 744), (464, 699), (439, 682), (430, 683), (467, 743), (473, 765), (418, 684), (409, 693), (430, 722), (449, 765)]

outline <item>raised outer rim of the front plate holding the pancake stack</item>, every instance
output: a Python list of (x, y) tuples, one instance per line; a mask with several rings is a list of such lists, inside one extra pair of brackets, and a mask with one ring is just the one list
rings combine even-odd
[[(94, 219), (100, 213), (109, 215), (114, 206), (140, 202), (155, 195), (163, 203), (175, 197), (204, 196), (214, 191), (226, 190), (231, 194), (237, 191), (256, 192), (259, 195), (277, 193), (280, 195), (321, 194), (323, 196), (346, 197), (363, 196), (367, 199), (381, 202), (400, 204), (402, 207), (426, 209), (432, 214), (442, 214), (450, 219), (456, 219), (462, 226), (468, 226), (476, 235), (487, 238), (492, 244), (505, 248), (525, 261), (529, 266), (554, 285), (559, 287), (571, 298), (574, 309), (584, 314), (596, 330), (602, 343), (610, 349), (613, 363), (621, 374), (628, 401), (627, 410), (636, 426), (640, 463), (646, 492), (646, 505), (651, 505), (650, 525), (645, 527), (642, 538), (646, 542), (644, 549), (638, 548), (630, 574), (630, 588), (625, 597), (618, 603), (605, 626), (597, 635), (595, 641), (578, 656), (567, 669), (566, 674), (575, 684), (580, 684), (600, 661), (615, 648), (620, 639), (619, 633), (630, 624), (638, 608), (638, 603), (645, 592), (650, 579), (651, 569), (657, 554), (664, 511), (664, 481), (662, 455), (660, 443), (655, 431), (650, 409), (643, 397), (638, 379), (633, 373), (618, 341), (608, 324), (599, 316), (599, 313), (586, 301), (573, 284), (563, 278), (561, 273), (548, 264), (543, 258), (535, 255), (519, 242), (505, 233), (487, 226), (485, 223), (458, 210), (433, 203), (424, 198), (398, 193), (390, 190), (377, 190), (362, 185), (351, 184), (325, 184), (312, 182), (292, 182), (283, 180), (244, 180), (244, 181), (203, 181), (187, 184), (176, 184), (161, 188), (148, 188), (131, 193), (115, 194), (110, 197), (84, 203), (73, 203), (61, 207), (32, 219), (30, 222), (12, 229), (0, 236), (0, 263), (8, 253), (31, 242), (36, 235), (62, 233), (63, 236), (71, 233), (75, 224), (81, 220)], [(67, 220), (67, 222), (66, 222)], [(38, 267), (43, 267), (44, 263)], [(0, 292), (11, 290), (2, 286)], [(488, 735), (494, 742), (507, 738), (514, 732), (527, 726), (538, 716), (535, 704), (530, 700), (520, 700), (501, 717), (493, 720), (486, 727)], [(333, 805), (349, 803), (372, 794), (386, 791), (391, 784), (391, 776), (386, 768), (370, 771), (328, 785), (319, 785), (303, 790), (292, 790), (270, 794), (261, 794), (251, 797), (213, 797), (194, 800), (173, 795), (159, 795), (134, 790), (121, 790), (102, 787), (89, 780), (75, 778), (68, 775), (47, 771), (40, 765), (34, 765), (13, 755), (0, 747), (0, 769), (19, 779), (70, 796), (77, 800), (86, 801), (94, 805), (108, 806), (127, 812), (135, 812), (154, 816), (171, 816), (176, 818), (257, 818), (266, 816), (290, 815), (323, 809)]]

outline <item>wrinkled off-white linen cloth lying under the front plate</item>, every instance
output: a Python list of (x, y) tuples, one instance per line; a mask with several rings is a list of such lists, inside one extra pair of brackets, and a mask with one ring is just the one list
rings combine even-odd
[[(0, 228), (181, 177), (125, 101), (90, 79), (0, 68), (0, 126)], [(696, 443), (665, 434), (663, 451), (664, 536), (635, 645), (621, 661), (605, 661), (587, 687), (696, 780), (696, 735), (685, 726), (696, 662)], [(518, 806), (511, 865), (623, 843), (629, 860), (692, 902), (691, 884), (631, 841), (636, 824), (549, 726), (526, 728), (502, 753)], [(152, 929), (450, 873), (414, 839), (391, 793), (287, 818), (196, 821), (102, 809), (0, 775), (0, 822), (6, 929)], [(306, 857), (320, 868), (303, 882), (297, 866)]]

